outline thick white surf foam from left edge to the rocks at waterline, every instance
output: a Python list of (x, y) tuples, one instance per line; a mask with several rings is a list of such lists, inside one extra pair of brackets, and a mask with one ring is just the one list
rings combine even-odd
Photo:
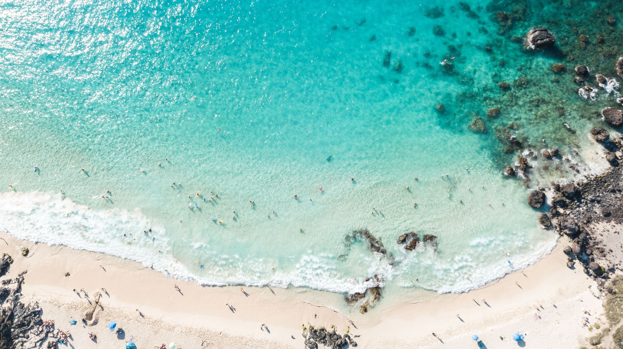
[[(187, 266), (179, 263), (171, 255), (170, 246), (173, 238), (169, 237), (162, 227), (151, 224), (150, 219), (138, 210), (135, 212), (120, 209), (95, 210), (76, 204), (61, 194), (9, 192), (0, 194), (0, 218), (2, 219), (0, 229), (6, 229), (20, 239), (128, 258), (163, 273), (167, 270), (167, 274), (174, 278), (192, 279), (206, 286), (226, 284), (196, 276)], [(151, 233), (143, 233), (143, 230), (150, 227)], [(152, 241), (152, 238), (155, 240)], [(193, 243), (192, 247), (199, 249), (209, 246), (197, 242)], [(335, 266), (323, 259), (321, 256), (303, 255), (296, 264), (295, 271), (282, 276), (277, 274), (273, 279), (251, 282), (245, 282), (242, 279), (245, 273), (238, 270), (239, 279), (233, 284), (246, 286), (271, 284), (282, 288), (292, 285), (333, 292), (362, 292), (368, 286), (372, 286), (371, 281), (364, 283), (363, 279), (343, 279)], [(236, 264), (234, 260), (240, 263), (240, 256), (221, 255), (219, 265), (231, 268)], [(373, 260), (377, 261), (376, 265)], [(256, 261), (259, 265), (255, 270), (265, 269), (263, 262)], [(381, 274), (381, 271), (374, 268), (388, 268), (373, 256), (370, 256), (369, 265), (371, 273), (376, 274)], [(252, 266), (246, 266), (254, 269)]]

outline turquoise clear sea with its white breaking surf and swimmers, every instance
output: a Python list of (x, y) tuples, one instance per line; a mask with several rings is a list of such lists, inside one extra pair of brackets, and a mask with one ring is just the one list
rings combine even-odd
[[(614, 94), (579, 99), (573, 75), (552, 82), (560, 57), (523, 51), (497, 34), (495, 12), (472, 11), (454, 1), (0, 4), (3, 227), (206, 284), (353, 292), (378, 274), (456, 292), (528, 265), (556, 239), (525, 203), (528, 187), (573, 173), (554, 160), (528, 185), (505, 178), (517, 152), (494, 130), (515, 122), (526, 149), (558, 147), (591, 165), (571, 150), (594, 147), (584, 111)], [(523, 19), (539, 24), (538, 13)], [(511, 34), (530, 26), (518, 20)], [(439, 65), (450, 56), (455, 71)], [(526, 88), (497, 86), (521, 77)], [(488, 119), (491, 107), (502, 115)], [(487, 133), (468, 130), (475, 114)], [(388, 256), (345, 243), (355, 229)], [(410, 231), (439, 246), (404, 250), (396, 238)]]

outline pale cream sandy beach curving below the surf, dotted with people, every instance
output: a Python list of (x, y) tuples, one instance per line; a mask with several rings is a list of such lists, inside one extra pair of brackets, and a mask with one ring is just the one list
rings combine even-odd
[[(350, 327), (351, 336), (361, 335), (353, 338), (361, 348), (412, 348), (413, 343), (435, 348), (441, 345), (440, 340), (451, 347), (463, 347), (473, 345), (470, 337), (474, 333), (485, 345), (497, 343), (496, 347), (511, 348), (516, 343), (511, 343), (509, 331), (528, 333), (526, 343), (543, 345), (555, 339), (552, 345), (566, 341), (574, 347), (590, 334), (579, 330), (581, 309), (590, 309), (590, 318), (595, 320), (603, 311), (601, 301), (589, 291), (589, 287), (596, 289), (595, 281), (581, 270), (567, 268), (561, 241), (566, 237), (561, 237), (545, 258), (481, 288), (461, 294), (405, 290), (399, 295), (384, 295), (367, 314), (359, 314), (358, 307), (348, 313), (335, 310), (340, 309), (338, 302), (344, 302), (343, 296), (326, 291), (249, 286), (244, 288), (249, 294), (245, 296), (238, 286), (201, 286), (168, 278), (115, 256), (21, 241), (6, 233), (0, 237), (9, 243), (2, 246), (2, 252), (15, 260), (5, 278), (28, 271), (24, 274), (22, 302), (38, 302), (42, 319), (54, 319), (58, 329), (70, 330), (74, 338), (70, 343), (80, 348), (125, 343), (108, 332), (105, 326), (110, 320), (116, 320), (128, 338), (133, 335), (136, 345), (143, 348), (170, 342), (180, 348), (201, 347), (204, 341), (214, 348), (303, 348), (302, 324), (327, 329), (335, 325), (341, 334)], [(26, 258), (19, 255), (21, 246), (31, 251)], [(66, 272), (70, 276), (65, 277)], [(174, 289), (175, 284), (180, 292)], [(85, 289), (90, 298), (78, 296), (74, 288)], [(107, 293), (100, 299), (103, 309), (97, 308), (93, 314), (97, 323), (83, 327), (80, 319), (92, 309), (89, 301), (101, 288)], [(539, 320), (533, 319), (535, 304), (543, 306)], [(578, 329), (568, 327), (568, 335), (550, 339), (552, 331), (560, 332), (558, 321), (569, 317), (578, 319)], [(69, 325), (70, 319), (78, 324)], [(262, 324), (270, 333), (260, 329)], [(408, 330), (412, 324), (417, 324), (415, 331)], [(98, 335), (98, 343), (88, 338), (89, 332)]]

